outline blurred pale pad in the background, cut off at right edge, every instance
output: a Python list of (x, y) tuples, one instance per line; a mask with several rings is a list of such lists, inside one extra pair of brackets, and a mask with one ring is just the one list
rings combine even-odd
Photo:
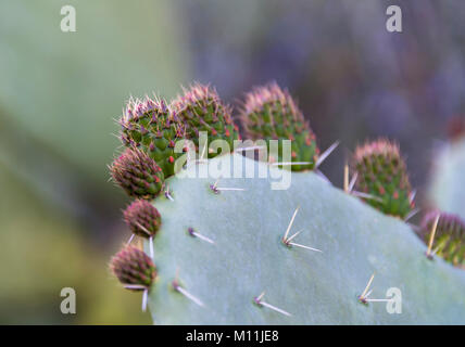
[(465, 138), (444, 146), (432, 167), (429, 200), (443, 211), (465, 218)]

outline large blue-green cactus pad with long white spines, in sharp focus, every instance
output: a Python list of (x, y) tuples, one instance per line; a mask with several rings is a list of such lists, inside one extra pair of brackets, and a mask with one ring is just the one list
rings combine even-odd
[[(265, 166), (269, 178), (201, 178), (238, 163)], [(190, 170), (199, 178), (167, 180), (174, 201), (152, 202), (163, 217), (149, 292), (155, 324), (465, 324), (465, 272), (428, 259), (400, 219), (313, 172), (237, 154)], [(282, 172), (290, 188), (272, 190)], [(400, 313), (369, 300), (392, 291)]]

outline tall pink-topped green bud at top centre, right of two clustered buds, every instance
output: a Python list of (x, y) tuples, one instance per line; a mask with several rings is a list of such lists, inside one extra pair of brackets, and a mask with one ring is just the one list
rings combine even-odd
[[(241, 121), (246, 136), (252, 140), (291, 140), (291, 162), (304, 163), (292, 165), (292, 170), (315, 168), (319, 155), (315, 134), (289, 92), (277, 83), (255, 88), (247, 94)], [(278, 157), (272, 160), (282, 163), (281, 153), (279, 142)]]

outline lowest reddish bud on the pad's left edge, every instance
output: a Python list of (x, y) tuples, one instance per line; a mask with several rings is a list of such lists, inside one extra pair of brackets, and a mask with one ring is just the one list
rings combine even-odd
[(131, 291), (149, 290), (156, 277), (156, 268), (142, 250), (126, 246), (110, 262), (110, 269), (123, 285)]

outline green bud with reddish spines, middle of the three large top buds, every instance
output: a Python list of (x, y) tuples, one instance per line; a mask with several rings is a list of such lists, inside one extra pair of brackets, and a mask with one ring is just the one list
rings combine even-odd
[[(210, 86), (193, 85), (178, 95), (172, 103), (173, 113), (178, 116), (187, 129), (187, 138), (191, 139), (199, 149), (199, 133), (208, 134), (209, 143), (215, 140), (224, 140), (229, 149), (234, 149), (234, 141), (239, 139), (239, 129), (232, 123), (231, 107), (224, 104), (216, 90)], [(215, 157), (218, 151), (208, 152), (208, 157)], [(230, 152), (230, 151), (229, 151)]]

